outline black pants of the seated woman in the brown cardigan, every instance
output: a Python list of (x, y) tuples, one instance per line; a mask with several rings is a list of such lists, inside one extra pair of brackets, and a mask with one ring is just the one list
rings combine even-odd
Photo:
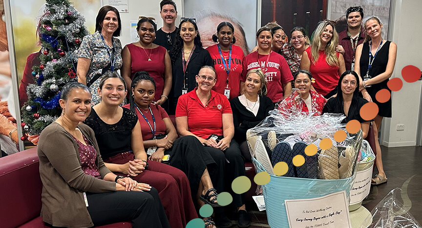
[(158, 191), (86, 193), (95, 226), (131, 221), (133, 228), (170, 228)]

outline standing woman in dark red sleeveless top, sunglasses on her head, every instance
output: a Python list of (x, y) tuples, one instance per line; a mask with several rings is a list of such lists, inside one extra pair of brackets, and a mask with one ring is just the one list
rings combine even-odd
[(139, 42), (127, 44), (123, 49), (121, 72), (127, 87), (132, 83), (136, 72), (148, 72), (157, 85), (154, 102), (167, 110), (168, 102), (166, 101), (171, 90), (171, 61), (166, 48), (152, 43), (157, 29), (154, 20), (154, 18), (140, 17), (136, 27)]

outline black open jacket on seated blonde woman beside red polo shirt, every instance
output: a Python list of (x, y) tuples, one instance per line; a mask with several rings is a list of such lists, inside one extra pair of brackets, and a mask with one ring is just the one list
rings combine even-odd
[[(253, 127), (256, 127), (268, 113), (274, 109), (274, 103), (270, 97), (259, 96), (259, 109), (256, 116), (246, 109), (246, 107), (240, 103), (239, 97), (234, 97), (230, 101), (233, 112), (233, 124), (234, 124), (234, 139), (238, 143), (246, 141), (246, 131)], [(241, 124), (241, 126), (239, 126)]]

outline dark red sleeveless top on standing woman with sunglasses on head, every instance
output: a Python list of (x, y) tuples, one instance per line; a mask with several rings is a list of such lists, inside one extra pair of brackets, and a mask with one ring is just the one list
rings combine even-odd
[[(163, 95), (164, 89), (164, 59), (166, 57), (167, 49), (158, 46), (153, 49), (143, 49), (133, 44), (127, 44), (130, 52), (132, 64), (130, 65), (130, 79), (133, 78), (136, 72), (146, 71), (149, 76), (155, 80), (155, 100), (159, 100)], [(148, 61), (148, 57), (151, 61)]]

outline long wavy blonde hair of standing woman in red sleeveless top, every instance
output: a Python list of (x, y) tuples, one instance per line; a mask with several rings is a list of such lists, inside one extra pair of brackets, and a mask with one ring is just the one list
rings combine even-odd
[(319, 22), (317, 28), (314, 31), (314, 37), (312, 38), (312, 48), (311, 48), (311, 57), (312, 63), (316, 64), (319, 58), (319, 48), (321, 47), (321, 34), (324, 32), (325, 27), (330, 25), (333, 27), (333, 36), (331, 40), (328, 41), (327, 45), (325, 46), (325, 61), (327, 61), (328, 65), (330, 66), (338, 66), (338, 57), (336, 53), (336, 46), (338, 45), (338, 33), (336, 31), (336, 27), (334, 24), (329, 20), (323, 20)]

